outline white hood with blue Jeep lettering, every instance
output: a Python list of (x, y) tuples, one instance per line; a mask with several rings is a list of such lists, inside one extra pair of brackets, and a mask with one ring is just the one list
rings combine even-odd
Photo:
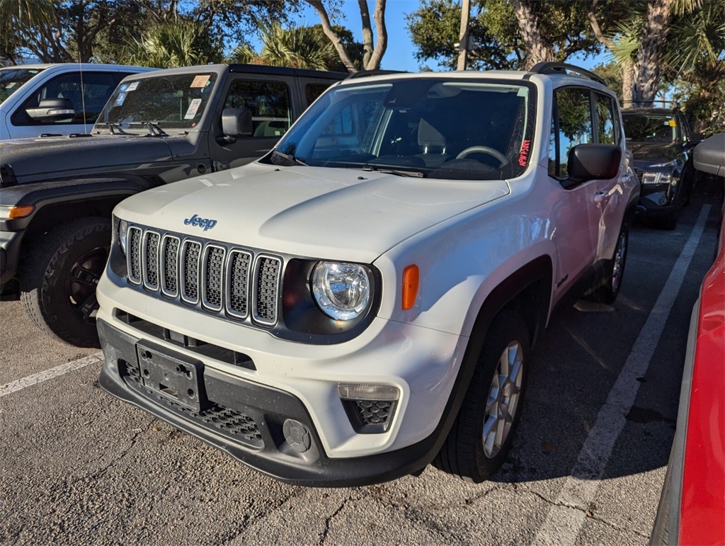
[[(115, 215), (252, 249), (371, 263), (415, 233), (509, 193), (505, 181), (253, 163), (144, 191)], [(194, 226), (194, 218), (202, 222)]]

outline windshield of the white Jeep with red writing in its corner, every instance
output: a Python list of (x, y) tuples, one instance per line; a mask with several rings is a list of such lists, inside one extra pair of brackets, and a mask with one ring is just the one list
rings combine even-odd
[(335, 86), (265, 162), (494, 180), (528, 165), (536, 114), (529, 83), (410, 78)]

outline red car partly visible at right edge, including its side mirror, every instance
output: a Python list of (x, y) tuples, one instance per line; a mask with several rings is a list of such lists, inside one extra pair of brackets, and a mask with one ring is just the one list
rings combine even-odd
[[(695, 149), (695, 167), (725, 177), (725, 133)], [(650, 545), (725, 546), (725, 224), (720, 230), (718, 255), (692, 311), (677, 429)]]

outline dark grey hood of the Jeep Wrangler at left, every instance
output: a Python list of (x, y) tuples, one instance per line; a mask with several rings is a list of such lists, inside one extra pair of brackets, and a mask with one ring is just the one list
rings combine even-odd
[(62, 136), (0, 141), (0, 165), (11, 167), (18, 183), (171, 160), (169, 145), (154, 137)]

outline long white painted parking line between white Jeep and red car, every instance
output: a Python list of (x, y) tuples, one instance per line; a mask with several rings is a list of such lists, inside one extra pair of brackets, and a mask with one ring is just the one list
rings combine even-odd
[(571, 469), (555, 505), (534, 538), (533, 545), (573, 545), (581, 526), (587, 518), (589, 503), (595, 497), (600, 479), (609, 461), (614, 444), (619, 437), (639, 389), (638, 377), (647, 372), (655, 347), (660, 340), (665, 323), (684, 280), (689, 262), (695, 254), (700, 236), (708, 219), (710, 205), (700, 211), (695, 227), (682, 249), (655, 306), (639, 332), (629, 357), (627, 357), (607, 402), (597, 415), (597, 422), (589, 432), (579, 452), (579, 458)]

